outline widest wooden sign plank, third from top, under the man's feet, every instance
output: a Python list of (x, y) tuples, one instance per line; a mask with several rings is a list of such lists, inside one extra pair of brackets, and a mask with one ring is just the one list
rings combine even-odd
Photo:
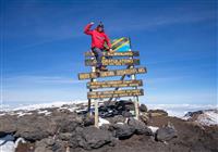
[[(100, 72), (99, 77), (110, 77), (110, 76), (123, 76), (123, 75), (132, 75), (132, 74), (144, 74), (146, 73), (145, 67), (138, 68), (129, 68), (129, 69), (113, 69), (108, 72)], [(78, 74), (78, 79), (89, 79), (97, 78), (97, 73), (81, 73)]]

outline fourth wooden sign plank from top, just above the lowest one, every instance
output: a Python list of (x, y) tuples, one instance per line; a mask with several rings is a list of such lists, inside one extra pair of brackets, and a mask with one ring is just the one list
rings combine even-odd
[(143, 80), (109, 80), (109, 81), (90, 81), (87, 83), (87, 88), (116, 88), (116, 87), (140, 87), (143, 86)]

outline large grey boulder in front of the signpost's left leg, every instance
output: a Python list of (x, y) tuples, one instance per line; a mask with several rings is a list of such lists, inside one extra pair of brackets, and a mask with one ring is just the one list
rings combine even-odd
[(90, 150), (97, 149), (114, 141), (111, 132), (96, 127), (85, 127), (76, 137), (81, 148)]

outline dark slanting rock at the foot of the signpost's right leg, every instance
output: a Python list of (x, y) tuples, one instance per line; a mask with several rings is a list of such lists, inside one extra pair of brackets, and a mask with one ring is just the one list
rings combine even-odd
[(128, 121), (128, 125), (135, 128), (135, 134), (137, 135), (153, 135), (152, 129), (149, 129), (143, 122), (136, 121), (133, 117)]

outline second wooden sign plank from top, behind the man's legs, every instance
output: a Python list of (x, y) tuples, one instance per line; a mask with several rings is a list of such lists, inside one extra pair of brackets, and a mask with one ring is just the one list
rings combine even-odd
[[(86, 59), (86, 66), (95, 66), (96, 60)], [(140, 65), (138, 59), (104, 59), (102, 65)]]

